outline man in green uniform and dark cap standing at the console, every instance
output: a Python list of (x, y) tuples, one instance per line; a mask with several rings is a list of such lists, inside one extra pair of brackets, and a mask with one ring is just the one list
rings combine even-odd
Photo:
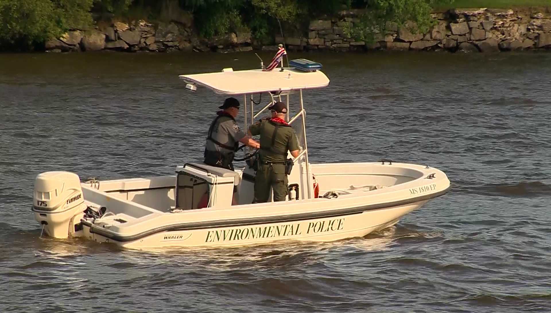
[(260, 162), (256, 171), (253, 203), (267, 202), (270, 187), (274, 201), (285, 201), (289, 192), (285, 173), (287, 152), (290, 151), (294, 158), (300, 153), (296, 133), (284, 120), (287, 106), (276, 102), (268, 109), (272, 111), (272, 118), (263, 119), (249, 128), (251, 134), (260, 134)]

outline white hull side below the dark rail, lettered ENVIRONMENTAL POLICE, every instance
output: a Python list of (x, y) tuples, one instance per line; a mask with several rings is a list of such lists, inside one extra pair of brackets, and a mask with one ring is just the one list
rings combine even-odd
[(423, 206), (426, 201), (360, 213), (326, 218), (291, 220), (283, 223), (234, 225), (222, 228), (158, 231), (140, 239), (119, 241), (109, 238), (91, 224), (84, 224), (83, 235), (97, 242), (113, 242), (132, 249), (153, 247), (207, 247), (261, 245), (281, 240), (334, 241), (361, 237), (390, 227), (403, 215)]

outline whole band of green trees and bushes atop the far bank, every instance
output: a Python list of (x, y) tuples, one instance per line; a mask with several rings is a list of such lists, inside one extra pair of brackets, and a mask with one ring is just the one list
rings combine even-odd
[[(456, 0), (461, 3), (515, 2), (517, 0)], [(549, 0), (518, 0), (548, 2)], [(93, 25), (91, 12), (109, 20), (155, 18), (167, 8), (190, 10), (199, 35), (212, 37), (249, 28), (263, 44), (279, 34), (300, 35), (311, 19), (331, 17), (340, 10), (365, 8), (359, 22), (343, 26), (343, 32), (359, 40), (384, 34), (388, 22), (424, 32), (434, 23), (430, 10), (449, 7), (453, 0), (0, 0), (0, 47), (31, 47), (68, 29)], [(164, 8), (164, 9), (163, 9)], [(173, 10), (172, 10), (173, 11)], [(170, 11), (170, 12), (172, 12)], [(415, 23), (406, 24), (411, 20)], [(245, 26), (246, 25), (246, 26)], [(304, 35), (304, 34), (303, 34)]]

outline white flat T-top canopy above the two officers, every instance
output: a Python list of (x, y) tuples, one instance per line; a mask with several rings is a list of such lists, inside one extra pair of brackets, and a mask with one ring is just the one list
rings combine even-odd
[(327, 87), (329, 79), (321, 71), (302, 72), (294, 68), (273, 71), (251, 69), (248, 71), (225, 71), (180, 75), (188, 83), (196, 83), (214, 90), (217, 94), (239, 95), (266, 91), (290, 91)]

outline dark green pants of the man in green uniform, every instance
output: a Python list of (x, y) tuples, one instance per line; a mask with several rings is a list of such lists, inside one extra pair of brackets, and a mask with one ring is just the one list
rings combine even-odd
[(288, 180), (285, 164), (260, 164), (255, 177), (255, 199), (252, 203), (267, 202), (270, 187), (274, 192), (274, 201), (285, 201), (288, 195)]

